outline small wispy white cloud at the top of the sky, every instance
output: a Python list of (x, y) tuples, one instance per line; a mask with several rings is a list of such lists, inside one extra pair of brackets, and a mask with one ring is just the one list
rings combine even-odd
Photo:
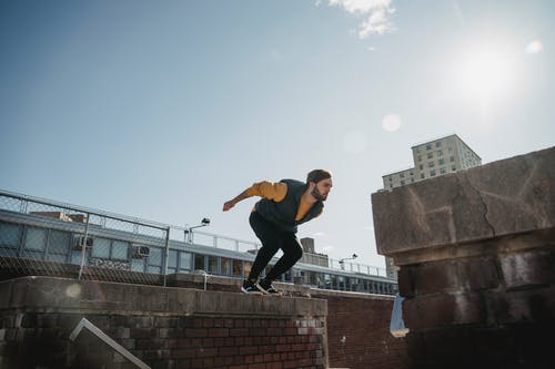
[(330, 0), (330, 7), (341, 7), (351, 14), (364, 17), (359, 24), (359, 38), (382, 34), (394, 30), (390, 16), (395, 12), (392, 0)]

